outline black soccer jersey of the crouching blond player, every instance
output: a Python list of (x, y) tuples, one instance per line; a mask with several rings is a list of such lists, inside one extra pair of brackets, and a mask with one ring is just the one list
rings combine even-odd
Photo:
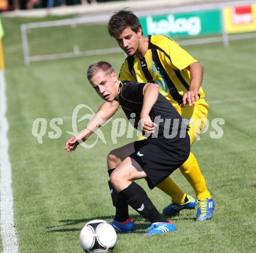
[[(147, 83), (136, 83), (133, 81), (121, 81), (119, 88), (119, 104), (122, 107), (128, 119), (135, 117), (134, 127), (138, 129), (140, 121), (140, 113), (143, 106), (144, 87)], [(150, 111), (152, 122), (158, 125), (156, 130), (159, 135), (171, 134), (172, 130), (179, 131), (185, 124), (182, 122), (182, 117), (176, 109), (168, 102), (168, 100), (159, 93), (157, 102)], [(140, 130), (140, 129), (139, 129)], [(157, 137), (154, 134), (151, 137)], [(150, 137), (150, 138), (151, 138)]]

